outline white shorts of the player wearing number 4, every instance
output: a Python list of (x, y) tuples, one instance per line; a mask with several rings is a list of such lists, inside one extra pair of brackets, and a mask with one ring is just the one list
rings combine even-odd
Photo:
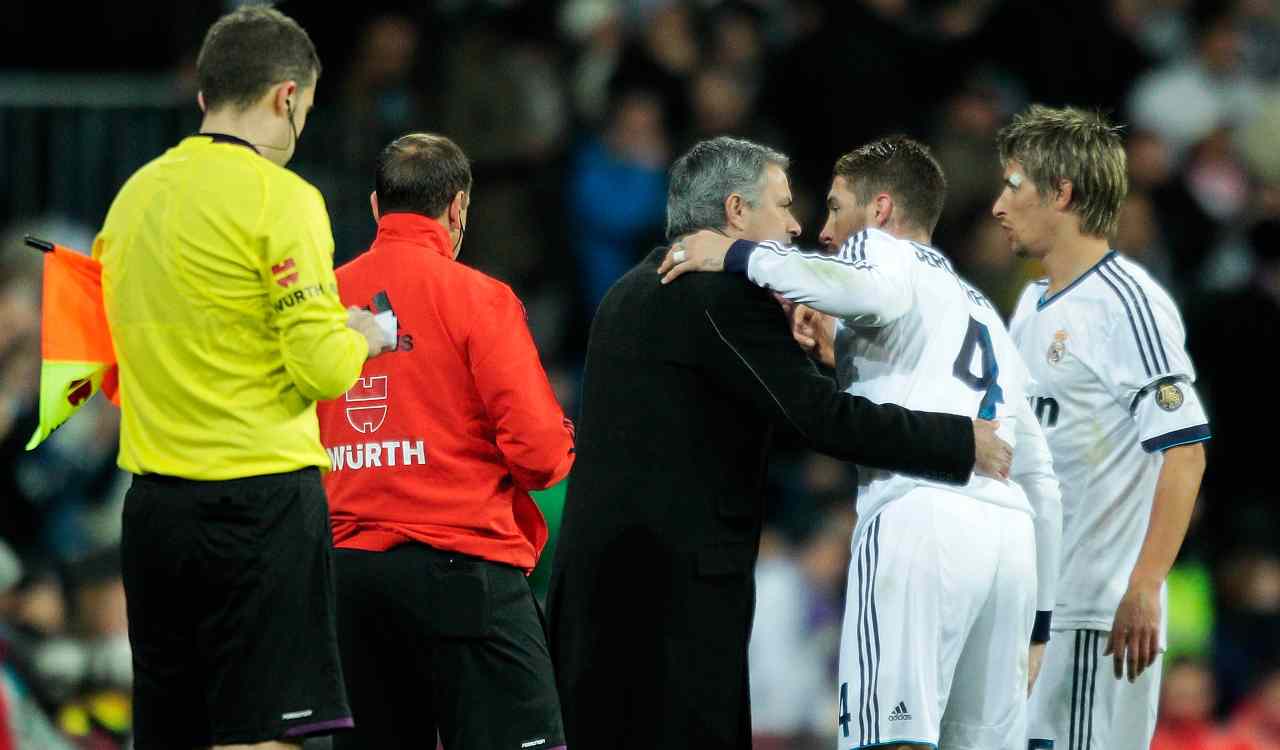
[(854, 535), (837, 750), (1025, 750), (1029, 515), (918, 488)]

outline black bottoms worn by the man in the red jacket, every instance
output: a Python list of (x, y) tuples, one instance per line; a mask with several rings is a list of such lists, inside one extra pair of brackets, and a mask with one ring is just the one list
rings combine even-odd
[(422, 544), (338, 549), (338, 640), (356, 728), (335, 750), (563, 750), (525, 573)]

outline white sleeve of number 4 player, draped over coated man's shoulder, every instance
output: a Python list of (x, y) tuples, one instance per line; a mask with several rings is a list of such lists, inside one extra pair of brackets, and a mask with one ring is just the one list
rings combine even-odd
[(911, 306), (911, 260), (905, 243), (879, 230), (850, 237), (836, 255), (777, 242), (735, 242), (724, 270), (792, 302), (856, 323), (887, 325)]

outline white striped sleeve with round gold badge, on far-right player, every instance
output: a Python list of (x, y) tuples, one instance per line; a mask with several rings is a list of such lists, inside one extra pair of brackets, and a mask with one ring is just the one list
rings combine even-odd
[(1102, 273), (1116, 292), (1117, 307), (1097, 371), (1138, 424), (1143, 449), (1156, 453), (1207, 440), (1208, 417), (1196, 393), (1196, 369), (1172, 299), (1117, 264)]

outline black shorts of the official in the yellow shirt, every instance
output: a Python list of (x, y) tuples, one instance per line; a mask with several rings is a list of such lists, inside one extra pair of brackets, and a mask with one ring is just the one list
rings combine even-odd
[(137, 750), (352, 726), (332, 545), (315, 468), (228, 481), (133, 477), (122, 557)]

